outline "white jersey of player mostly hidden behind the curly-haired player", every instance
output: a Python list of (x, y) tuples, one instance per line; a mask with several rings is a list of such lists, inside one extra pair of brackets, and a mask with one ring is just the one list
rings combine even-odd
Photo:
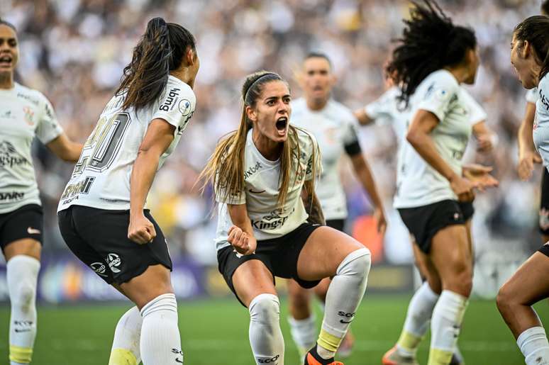
[(409, 121), (409, 108), (399, 105), (400, 89), (393, 86), (387, 89), (379, 98), (364, 107), (368, 118), (378, 125), (390, 124), (397, 135), (399, 145), (406, 137)]

